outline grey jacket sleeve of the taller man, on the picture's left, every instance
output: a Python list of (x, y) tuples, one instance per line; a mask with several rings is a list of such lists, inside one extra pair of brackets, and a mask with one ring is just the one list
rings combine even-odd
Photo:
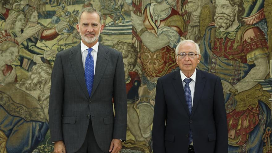
[(57, 53), (51, 75), (51, 90), (49, 97), (49, 128), (51, 142), (62, 140), (62, 106), (64, 94), (64, 77), (62, 59)]

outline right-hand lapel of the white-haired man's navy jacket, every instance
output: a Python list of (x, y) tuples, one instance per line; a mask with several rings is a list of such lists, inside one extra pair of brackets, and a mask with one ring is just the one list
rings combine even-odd
[(192, 115), (195, 112), (196, 108), (198, 107), (198, 103), (200, 101), (202, 91), (204, 89), (205, 81), (206, 79), (204, 79), (204, 76), (202, 75), (202, 71), (197, 69), (196, 83), (195, 83), (194, 96), (193, 96)]

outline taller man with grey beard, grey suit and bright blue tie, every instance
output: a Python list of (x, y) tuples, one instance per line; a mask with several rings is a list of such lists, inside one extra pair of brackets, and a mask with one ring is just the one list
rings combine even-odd
[(56, 153), (119, 153), (126, 139), (122, 53), (98, 42), (103, 28), (99, 11), (83, 9), (77, 24), (81, 43), (57, 53), (48, 111)]

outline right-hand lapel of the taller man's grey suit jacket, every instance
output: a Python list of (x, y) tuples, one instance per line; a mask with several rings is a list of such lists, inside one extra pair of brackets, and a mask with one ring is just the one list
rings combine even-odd
[[(96, 72), (94, 76), (94, 83), (91, 91), (91, 96), (94, 94), (108, 64), (109, 55), (108, 49), (102, 44), (98, 45), (97, 60), (96, 60)], [(90, 97), (91, 98), (91, 97)]]

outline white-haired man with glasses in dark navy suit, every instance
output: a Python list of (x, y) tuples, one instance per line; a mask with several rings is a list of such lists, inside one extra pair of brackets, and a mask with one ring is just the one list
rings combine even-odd
[(176, 47), (181, 70), (158, 79), (154, 153), (227, 153), (227, 117), (221, 80), (196, 69), (201, 58), (192, 40)]

